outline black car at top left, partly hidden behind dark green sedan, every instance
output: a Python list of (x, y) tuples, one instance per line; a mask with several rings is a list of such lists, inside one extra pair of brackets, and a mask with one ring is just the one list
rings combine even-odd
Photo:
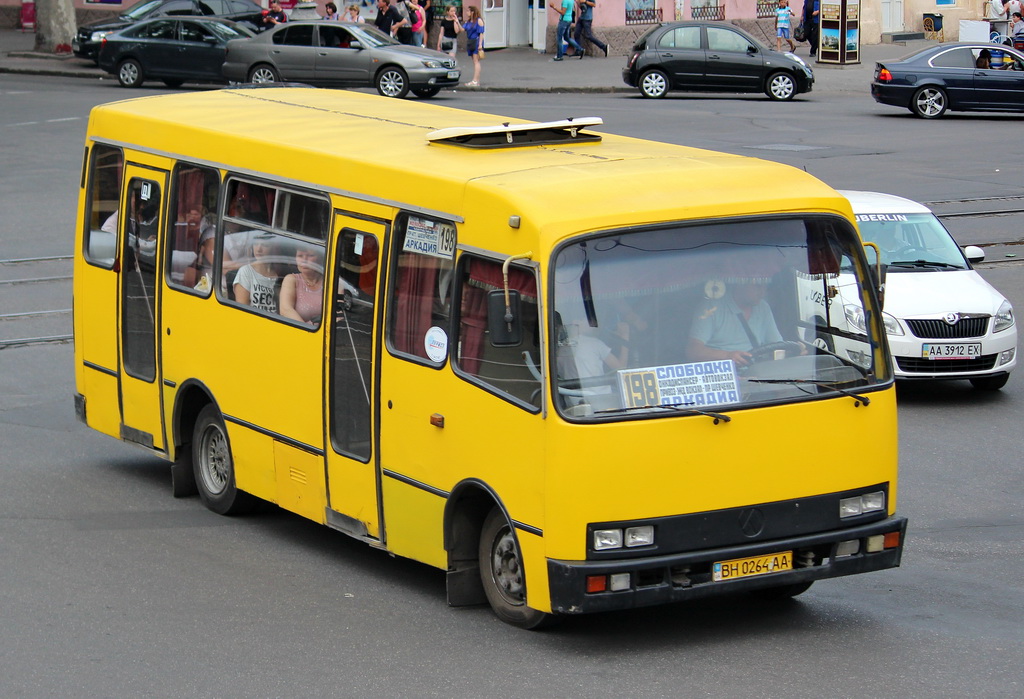
[(263, 26), (263, 8), (253, 0), (139, 0), (117, 17), (79, 27), (72, 50), (80, 58), (97, 60), (99, 45), (108, 34), (143, 19), (164, 16), (220, 17), (251, 25), (255, 30)]

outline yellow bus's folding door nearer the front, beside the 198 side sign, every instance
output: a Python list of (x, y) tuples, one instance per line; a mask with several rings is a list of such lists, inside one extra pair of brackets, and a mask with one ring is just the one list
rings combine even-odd
[(328, 337), (328, 523), (380, 540), (380, 471), (374, 429), (379, 359), (377, 304), (384, 223), (335, 217), (333, 312)]

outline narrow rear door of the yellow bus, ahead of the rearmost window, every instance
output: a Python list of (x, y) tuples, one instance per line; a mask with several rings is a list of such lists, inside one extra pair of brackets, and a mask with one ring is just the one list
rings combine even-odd
[(163, 450), (157, 295), (167, 173), (129, 165), (125, 180), (118, 318), (121, 438)]

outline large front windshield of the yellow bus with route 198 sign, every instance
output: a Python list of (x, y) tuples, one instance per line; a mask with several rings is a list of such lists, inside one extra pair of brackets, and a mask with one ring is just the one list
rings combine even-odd
[(856, 232), (826, 216), (578, 238), (554, 260), (555, 403), (617, 419), (889, 380)]

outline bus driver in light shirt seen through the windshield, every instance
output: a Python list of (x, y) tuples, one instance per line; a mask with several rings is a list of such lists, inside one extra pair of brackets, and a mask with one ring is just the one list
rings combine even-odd
[(732, 359), (737, 366), (749, 366), (752, 350), (782, 342), (765, 301), (767, 289), (767, 279), (745, 279), (730, 283), (721, 298), (707, 299), (690, 325), (690, 360)]

